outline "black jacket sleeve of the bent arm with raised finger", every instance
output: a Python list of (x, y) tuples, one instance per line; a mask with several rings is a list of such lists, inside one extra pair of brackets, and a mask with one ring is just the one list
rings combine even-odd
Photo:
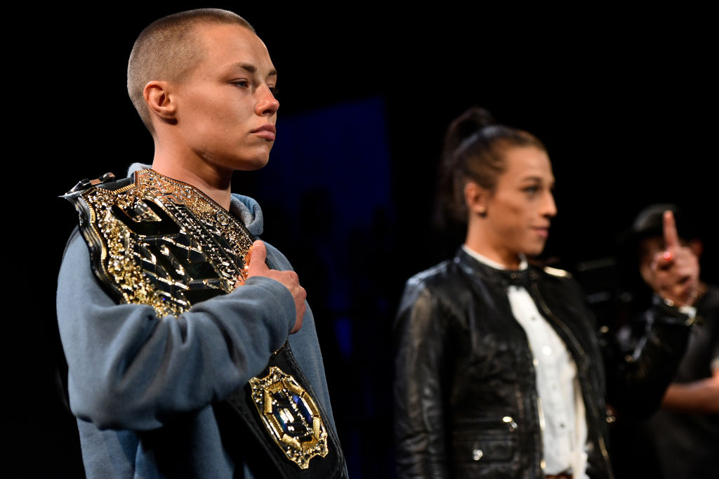
[(622, 350), (613, 332), (600, 335), (607, 375), (607, 401), (617, 413), (643, 419), (659, 409), (677, 374), (692, 319), (661, 298), (647, 311), (648, 327), (636, 350)]

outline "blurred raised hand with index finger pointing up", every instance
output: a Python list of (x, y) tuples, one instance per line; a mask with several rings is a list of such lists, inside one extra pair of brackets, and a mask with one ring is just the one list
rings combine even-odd
[(665, 249), (654, 255), (652, 282), (659, 296), (676, 306), (692, 306), (699, 286), (699, 260), (688, 247), (682, 246), (672, 211), (664, 211)]

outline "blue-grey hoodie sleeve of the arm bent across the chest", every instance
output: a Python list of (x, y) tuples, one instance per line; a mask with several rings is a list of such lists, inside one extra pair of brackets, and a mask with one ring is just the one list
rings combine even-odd
[(58, 277), (70, 409), (100, 429), (147, 430), (219, 401), (260, 373), (295, 322), (290, 292), (249, 278), (179, 316), (116, 304), (75, 231)]

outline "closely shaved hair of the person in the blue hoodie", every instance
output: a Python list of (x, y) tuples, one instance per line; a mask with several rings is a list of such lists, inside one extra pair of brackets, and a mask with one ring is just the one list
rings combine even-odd
[(194, 9), (162, 17), (135, 40), (127, 63), (127, 93), (145, 127), (154, 132), (143, 91), (150, 81), (183, 83), (206, 51), (199, 41), (201, 24), (236, 24), (255, 33), (247, 20), (222, 9)]

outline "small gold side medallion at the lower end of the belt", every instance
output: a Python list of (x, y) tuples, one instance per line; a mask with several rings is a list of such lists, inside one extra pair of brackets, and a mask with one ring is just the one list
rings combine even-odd
[(327, 431), (316, 404), (295, 378), (273, 366), (265, 378), (252, 378), (252, 401), (267, 430), (288, 459), (301, 469), (327, 455)]

